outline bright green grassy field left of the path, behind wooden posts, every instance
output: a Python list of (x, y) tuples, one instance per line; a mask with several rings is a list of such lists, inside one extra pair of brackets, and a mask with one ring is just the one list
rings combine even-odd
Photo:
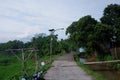
[[(63, 54), (64, 53), (52, 55), (52, 61)], [(46, 72), (47, 69), (49, 69), (49, 67), (51, 66), (50, 57), (43, 56), (39, 58), (39, 63), (42, 61), (44, 61), (46, 65), (43, 68), (39, 65), (39, 70), (44, 69), (44, 71)], [(27, 68), (27, 72), (31, 77), (35, 71), (35, 61), (32, 59), (29, 59), (27, 61), (26, 68)], [(17, 60), (15, 56), (0, 55), (0, 79), (1, 80), (18, 80), (22, 77), (23, 77), (23, 74), (22, 74), (21, 62)]]

